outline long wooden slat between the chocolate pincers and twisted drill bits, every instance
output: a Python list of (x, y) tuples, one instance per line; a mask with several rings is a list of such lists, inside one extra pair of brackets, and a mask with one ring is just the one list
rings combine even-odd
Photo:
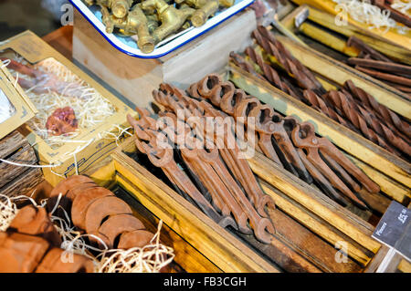
[[(318, 134), (332, 140), (342, 150), (385, 173), (396, 182), (404, 184), (407, 188), (411, 186), (411, 165), (408, 162), (381, 149), (373, 142), (365, 140), (364, 137), (327, 118), (315, 109), (311, 109), (299, 100), (293, 99), (268, 82), (253, 77), (234, 64), (230, 64), (230, 70), (230, 79), (237, 87), (243, 88), (248, 94), (271, 105), (284, 115), (295, 116), (301, 121), (310, 121)], [(380, 176), (375, 175), (374, 179), (378, 178)], [(385, 183), (384, 180), (374, 180), (374, 182), (379, 185)], [(398, 195), (404, 192), (403, 187), (396, 187), (395, 184), (390, 186), (392, 186), (390, 192), (398, 191)]]

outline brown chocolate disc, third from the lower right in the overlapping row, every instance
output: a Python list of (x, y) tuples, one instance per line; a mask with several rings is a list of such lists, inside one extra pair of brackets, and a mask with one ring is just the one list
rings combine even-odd
[(86, 211), (86, 233), (97, 232), (104, 218), (115, 214), (132, 214), (130, 206), (115, 196), (97, 199)]

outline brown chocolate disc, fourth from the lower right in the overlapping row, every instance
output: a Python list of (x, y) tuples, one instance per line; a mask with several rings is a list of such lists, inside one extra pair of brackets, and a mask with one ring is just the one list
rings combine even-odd
[(86, 189), (79, 192), (74, 198), (73, 205), (71, 206), (71, 220), (82, 230), (85, 230), (85, 218), (86, 211), (89, 208), (90, 203), (94, 200), (106, 197), (114, 196), (114, 194), (105, 188), (97, 187), (92, 189)]

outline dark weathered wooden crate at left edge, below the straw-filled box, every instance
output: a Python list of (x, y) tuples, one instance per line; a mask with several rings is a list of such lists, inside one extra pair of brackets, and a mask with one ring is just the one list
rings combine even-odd
[[(0, 159), (29, 165), (37, 164), (35, 151), (16, 130), (0, 140)], [(23, 195), (43, 180), (39, 168), (15, 166), (0, 161), (0, 194), (9, 197)]]

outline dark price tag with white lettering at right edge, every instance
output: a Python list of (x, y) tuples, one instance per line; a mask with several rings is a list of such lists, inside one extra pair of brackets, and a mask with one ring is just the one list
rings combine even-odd
[(393, 201), (375, 227), (377, 241), (411, 260), (411, 210)]

